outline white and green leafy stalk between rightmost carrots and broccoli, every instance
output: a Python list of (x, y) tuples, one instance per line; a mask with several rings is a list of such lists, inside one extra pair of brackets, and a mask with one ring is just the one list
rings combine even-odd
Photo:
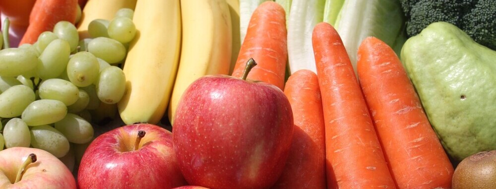
[(405, 19), (397, 0), (345, 0), (334, 27), (356, 72), (357, 51), (362, 41), (374, 36), (398, 48), (404, 41)]

